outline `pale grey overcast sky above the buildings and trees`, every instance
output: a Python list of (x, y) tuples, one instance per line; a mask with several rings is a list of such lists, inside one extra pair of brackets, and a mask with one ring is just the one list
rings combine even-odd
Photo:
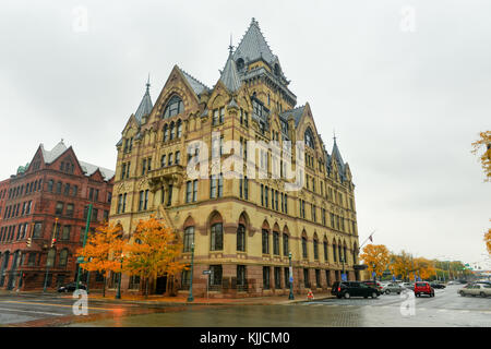
[(0, 178), (61, 139), (113, 169), (147, 74), (154, 101), (173, 64), (213, 86), (255, 17), (330, 153), (336, 131), (360, 242), (376, 229), (394, 252), (482, 261), (491, 183), (470, 144), (491, 129), (490, 13), (487, 0), (3, 0)]

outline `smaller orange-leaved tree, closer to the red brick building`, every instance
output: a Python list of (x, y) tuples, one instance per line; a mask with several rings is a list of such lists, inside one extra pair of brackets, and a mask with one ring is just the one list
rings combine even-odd
[(87, 272), (99, 272), (104, 276), (103, 297), (106, 296), (106, 277), (109, 272), (121, 273), (120, 255), (124, 250), (122, 231), (119, 226), (108, 222), (89, 233), (85, 246), (76, 255), (84, 258), (81, 267)]

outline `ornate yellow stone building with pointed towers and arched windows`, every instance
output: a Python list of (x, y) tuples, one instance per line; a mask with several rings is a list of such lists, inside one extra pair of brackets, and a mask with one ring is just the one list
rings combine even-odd
[[(295, 292), (330, 289), (342, 278), (343, 265), (349, 279), (359, 278), (355, 185), (336, 140), (328, 153), (309, 104), (296, 107), (289, 81), (254, 19), (237, 49), (229, 50), (213, 88), (177, 65), (155, 105), (147, 84), (117, 144), (110, 220), (131, 236), (139, 219), (164, 218), (182, 239), (185, 261), (194, 241), (194, 296), (206, 292), (207, 282), (211, 297), (286, 294), (289, 252)], [(196, 141), (206, 147), (190, 147)], [(228, 141), (237, 142), (233, 152)], [(287, 190), (287, 164), (271, 148), (251, 151), (248, 141), (280, 146), (301, 141), (302, 154), (295, 147), (287, 154), (302, 186)], [(213, 160), (200, 163), (200, 171), (212, 174), (188, 174), (190, 161), (214, 153), (221, 164), (229, 154), (241, 155), (243, 174), (228, 178)], [(300, 172), (299, 158), (304, 163)], [(267, 178), (248, 177), (251, 168)], [(278, 169), (280, 177), (274, 178)], [(233, 173), (240, 173), (238, 167)], [(188, 291), (189, 275), (178, 278), (180, 292)], [(123, 276), (122, 291), (139, 290), (139, 282)], [(166, 291), (166, 277), (154, 280), (152, 289)]]

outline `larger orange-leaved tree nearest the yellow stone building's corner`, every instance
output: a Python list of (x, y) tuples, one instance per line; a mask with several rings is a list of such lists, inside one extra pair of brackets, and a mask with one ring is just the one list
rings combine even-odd
[(140, 220), (128, 245), (124, 256), (124, 269), (130, 275), (140, 275), (146, 281), (145, 294), (148, 296), (148, 281), (167, 275), (167, 280), (187, 268), (179, 261), (182, 244), (176, 233), (161, 219), (151, 216)]

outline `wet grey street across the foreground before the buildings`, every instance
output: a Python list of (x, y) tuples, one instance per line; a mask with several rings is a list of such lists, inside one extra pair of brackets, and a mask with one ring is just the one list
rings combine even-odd
[[(88, 315), (74, 315), (73, 299), (59, 294), (0, 296), (1, 326), (190, 326), (190, 327), (372, 327), (491, 326), (491, 298), (460, 297), (460, 285), (435, 297), (380, 296), (324, 299), (276, 305), (148, 305), (88, 301)], [(402, 304), (411, 308), (402, 310)]]

